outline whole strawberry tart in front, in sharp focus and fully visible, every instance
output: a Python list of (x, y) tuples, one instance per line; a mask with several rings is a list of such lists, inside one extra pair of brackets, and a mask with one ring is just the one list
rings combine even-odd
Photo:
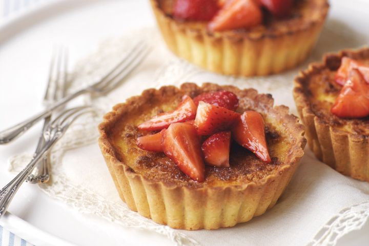
[(186, 230), (232, 227), (272, 208), (306, 142), (270, 94), (215, 84), (146, 90), (116, 105), (99, 132), (127, 206)]

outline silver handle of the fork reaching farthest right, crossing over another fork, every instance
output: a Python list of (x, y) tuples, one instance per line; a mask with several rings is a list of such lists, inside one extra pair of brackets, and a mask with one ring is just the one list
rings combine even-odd
[(47, 109), (45, 109), (42, 112), (39, 112), (38, 114), (30, 117), (29, 119), (26, 119), (25, 121), (20, 122), (19, 124), (10, 127), (4, 131), (0, 132), (0, 145), (2, 144), (7, 144), (8, 142), (11, 142), (12, 140), (14, 140), (16, 137), (22, 135), (23, 133), (25, 133), (26, 131), (28, 131), (28, 129), (30, 129), (36, 122), (38, 122), (39, 120), (49, 116), (55, 109), (57, 109), (58, 107), (65, 105), (66, 103), (68, 103), (70, 100), (76, 98), (79, 95), (82, 95), (84, 93), (88, 92), (88, 90), (86, 89), (82, 89), (79, 90), (71, 95), (68, 95), (66, 97), (64, 97), (63, 99), (57, 101), (56, 103), (52, 104), (50, 107), (48, 107)]

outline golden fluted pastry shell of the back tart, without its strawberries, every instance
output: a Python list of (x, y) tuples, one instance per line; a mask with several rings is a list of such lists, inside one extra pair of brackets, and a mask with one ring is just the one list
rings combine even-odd
[[(304, 0), (307, 1), (307, 0)], [(227, 75), (268, 75), (301, 63), (314, 48), (329, 9), (326, 0), (310, 0), (300, 22), (264, 30), (210, 33), (206, 25), (179, 22), (167, 14), (171, 0), (150, 0), (168, 48), (204, 69)]]

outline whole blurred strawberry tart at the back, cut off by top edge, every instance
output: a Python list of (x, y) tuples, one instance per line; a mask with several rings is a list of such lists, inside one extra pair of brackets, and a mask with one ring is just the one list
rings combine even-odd
[(150, 0), (168, 48), (213, 72), (268, 75), (314, 48), (327, 0)]

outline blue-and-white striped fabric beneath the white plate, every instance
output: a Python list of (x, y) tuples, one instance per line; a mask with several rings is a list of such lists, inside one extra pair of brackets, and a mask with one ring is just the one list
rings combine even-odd
[[(0, 24), (27, 8), (35, 7), (38, 3), (49, 0), (0, 0)], [(33, 246), (24, 239), (14, 235), (0, 226), (0, 246)]]

